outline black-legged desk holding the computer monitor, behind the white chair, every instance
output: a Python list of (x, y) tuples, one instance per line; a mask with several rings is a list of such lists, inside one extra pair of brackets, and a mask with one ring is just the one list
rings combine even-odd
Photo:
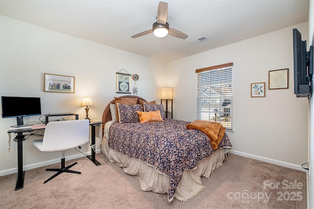
[[(101, 165), (96, 159), (95, 159), (95, 138), (96, 138), (96, 126), (100, 126), (102, 121), (94, 121), (90, 122), (89, 125), (91, 126), (91, 155), (88, 155), (87, 157), (96, 165), (99, 166)], [(15, 190), (23, 189), (24, 185), (24, 175), (25, 171), (23, 171), (23, 141), (25, 140), (25, 136), (23, 135), (24, 132), (33, 132), (33, 131), (38, 131), (38, 130), (45, 130), (44, 127), (39, 127), (39, 128), (29, 128), (29, 126), (25, 128), (19, 128), (19, 129), (10, 129), (8, 130), (8, 133), (16, 133), (17, 136), (15, 137), (17, 143), (18, 143), (18, 178), (16, 181), (16, 186)], [(94, 149), (93, 149), (94, 148)]]

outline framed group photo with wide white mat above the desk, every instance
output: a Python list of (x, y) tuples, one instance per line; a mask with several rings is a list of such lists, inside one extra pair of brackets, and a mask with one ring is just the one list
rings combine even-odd
[(44, 73), (44, 91), (75, 93), (75, 77)]

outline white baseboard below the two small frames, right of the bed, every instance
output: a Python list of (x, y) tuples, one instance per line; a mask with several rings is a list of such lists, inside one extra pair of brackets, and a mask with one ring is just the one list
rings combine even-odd
[(232, 154), (243, 156), (243, 157), (248, 157), (248, 158), (252, 158), (252, 159), (255, 159), (255, 160), (260, 160), (260, 161), (263, 161), (263, 162), (272, 163), (272, 164), (275, 164), (275, 165), (280, 165), (280, 166), (284, 166), (284, 167), (287, 167), (287, 168), (292, 168), (292, 169), (303, 171), (303, 172), (307, 171), (306, 169), (302, 168), (301, 165), (287, 163), (287, 162), (280, 161), (280, 160), (274, 160), (274, 159), (271, 159), (271, 158), (262, 157), (262, 156), (254, 155), (254, 154), (249, 154), (249, 153), (246, 153), (246, 152), (236, 151), (234, 149), (231, 149), (229, 152), (232, 153)]

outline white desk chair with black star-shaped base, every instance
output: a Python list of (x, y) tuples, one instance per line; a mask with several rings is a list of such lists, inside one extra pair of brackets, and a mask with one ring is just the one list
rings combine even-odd
[(89, 142), (88, 119), (52, 121), (47, 123), (44, 138), (42, 140), (34, 140), (33, 145), (41, 151), (61, 150), (62, 157), (60, 169), (46, 169), (46, 171), (56, 171), (57, 173), (44, 183), (63, 172), (81, 174), (78, 171), (68, 170), (76, 165), (77, 162), (65, 167), (64, 150), (81, 146), (87, 142)]

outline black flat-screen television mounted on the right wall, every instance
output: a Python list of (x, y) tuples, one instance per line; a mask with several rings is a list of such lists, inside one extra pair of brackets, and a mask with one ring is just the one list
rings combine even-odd
[(313, 46), (307, 52), (306, 40), (302, 40), (301, 33), (293, 29), (293, 68), (294, 93), (296, 97), (312, 96), (311, 81), (313, 76)]

